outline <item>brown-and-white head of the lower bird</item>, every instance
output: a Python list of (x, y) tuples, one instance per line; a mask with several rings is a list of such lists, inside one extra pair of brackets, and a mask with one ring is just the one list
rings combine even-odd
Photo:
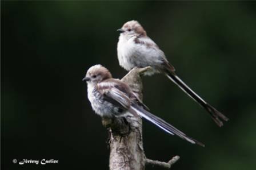
[(98, 82), (108, 78), (112, 78), (109, 70), (102, 65), (97, 64), (88, 69), (86, 76), (83, 78), (83, 81), (86, 81), (89, 84), (97, 84)]

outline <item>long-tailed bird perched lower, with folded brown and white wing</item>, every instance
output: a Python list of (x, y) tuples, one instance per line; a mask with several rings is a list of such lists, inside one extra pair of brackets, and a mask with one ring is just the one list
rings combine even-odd
[(205, 146), (163, 119), (151, 114), (148, 107), (130, 89), (130, 86), (119, 79), (112, 78), (109, 70), (102, 65), (97, 64), (90, 67), (82, 80), (87, 82), (87, 97), (91, 107), (102, 118), (139, 116), (168, 134), (175, 134), (190, 143)]

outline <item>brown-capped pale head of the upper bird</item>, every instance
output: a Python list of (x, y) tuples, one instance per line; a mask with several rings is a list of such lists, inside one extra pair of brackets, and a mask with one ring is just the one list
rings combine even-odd
[(127, 38), (131, 38), (133, 36), (147, 36), (146, 31), (137, 20), (130, 20), (129, 22), (126, 22), (123, 24), (123, 27), (117, 31)]

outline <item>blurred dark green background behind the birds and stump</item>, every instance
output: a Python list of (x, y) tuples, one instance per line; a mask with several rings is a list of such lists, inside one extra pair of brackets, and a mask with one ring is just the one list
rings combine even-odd
[[(230, 121), (207, 112), (162, 75), (144, 77), (144, 102), (195, 146), (145, 122), (147, 157), (173, 169), (255, 169), (256, 4), (253, 2), (1, 1), (3, 169), (108, 169), (107, 132), (82, 78), (94, 64), (116, 78), (118, 32), (136, 19), (177, 74)], [(158, 90), (156, 90), (158, 89)], [(13, 164), (57, 159), (59, 164)], [(146, 169), (161, 169), (158, 167)]]

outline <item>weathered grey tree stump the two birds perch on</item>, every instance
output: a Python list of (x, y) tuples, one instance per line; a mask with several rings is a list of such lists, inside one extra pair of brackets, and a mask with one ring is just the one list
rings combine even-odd
[[(141, 100), (141, 75), (148, 69), (150, 67), (134, 68), (122, 78), (122, 81), (129, 84), (130, 88)], [(168, 163), (146, 159), (143, 150), (141, 117), (103, 118), (102, 124), (108, 127), (110, 132), (110, 170), (142, 170), (145, 169), (145, 164), (170, 168), (171, 164), (179, 159), (179, 157), (175, 157), (175, 160), (172, 159)]]

